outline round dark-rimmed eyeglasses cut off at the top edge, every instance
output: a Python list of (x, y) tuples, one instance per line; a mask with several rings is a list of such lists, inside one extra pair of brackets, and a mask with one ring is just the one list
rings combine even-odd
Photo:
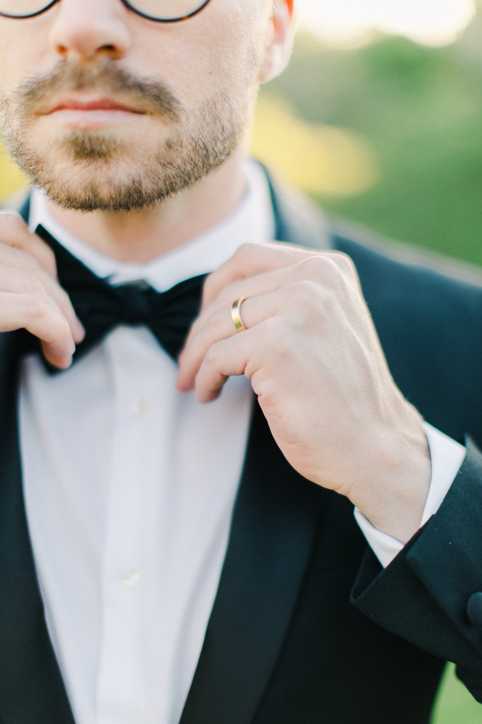
[[(0, 15), (22, 20), (46, 12), (60, 0), (0, 0)], [(132, 12), (156, 22), (180, 22), (197, 15), (210, 0), (121, 0)]]

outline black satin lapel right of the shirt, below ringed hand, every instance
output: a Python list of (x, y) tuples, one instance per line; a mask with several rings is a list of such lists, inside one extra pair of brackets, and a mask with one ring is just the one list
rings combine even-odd
[(320, 489), (298, 476), (256, 405), (218, 595), (181, 724), (248, 724), (303, 580)]

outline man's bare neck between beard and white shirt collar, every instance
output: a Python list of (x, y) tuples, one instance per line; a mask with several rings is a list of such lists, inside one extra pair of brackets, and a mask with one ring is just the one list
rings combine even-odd
[(151, 261), (228, 218), (246, 191), (244, 153), (230, 158), (194, 188), (142, 211), (66, 211), (48, 202), (52, 216), (69, 232), (119, 261)]

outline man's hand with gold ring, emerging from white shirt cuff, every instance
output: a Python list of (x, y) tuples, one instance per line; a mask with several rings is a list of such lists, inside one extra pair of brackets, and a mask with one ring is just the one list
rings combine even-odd
[[(241, 296), (247, 329), (238, 333), (231, 306)], [(298, 473), (400, 542), (416, 532), (429, 445), (392, 380), (348, 256), (244, 245), (207, 278), (179, 366), (178, 390), (195, 387), (201, 402), (245, 374)]]

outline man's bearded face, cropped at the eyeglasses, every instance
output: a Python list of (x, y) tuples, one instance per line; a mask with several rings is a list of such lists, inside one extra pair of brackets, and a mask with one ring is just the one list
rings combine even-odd
[(140, 209), (191, 187), (243, 136), (271, 9), (211, 0), (163, 24), (120, 0), (61, 0), (27, 20), (0, 17), (9, 150), (69, 209)]

